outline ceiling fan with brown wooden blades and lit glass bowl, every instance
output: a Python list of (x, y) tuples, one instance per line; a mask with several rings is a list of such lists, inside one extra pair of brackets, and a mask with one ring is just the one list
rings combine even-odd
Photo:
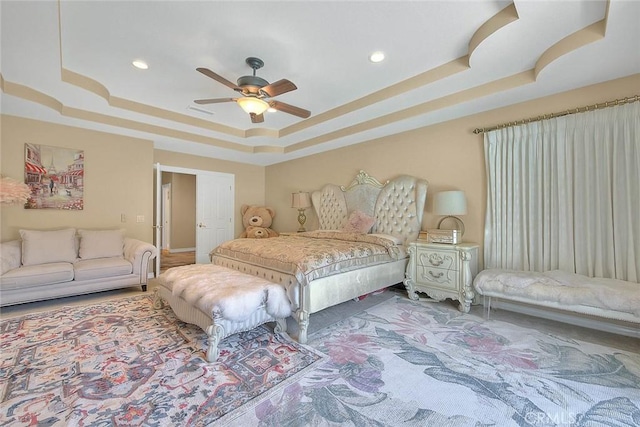
[(285, 104), (281, 101), (269, 100), (283, 93), (291, 92), (298, 89), (291, 81), (281, 79), (274, 83), (269, 83), (265, 79), (256, 76), (256, 70), (264, 66), (264, 62), (260, 58), (249, 57), (246, 63), (253, 69), (252, 76), (242, 76), (238, 79), (238, 84), (234, 84), (224, 77), (214, 73), (208, 68), (196, 68), (207, 77), (222, 83), (242, 94), (240, 98), (213, 98), (213, 99), (196, 99), (196, 104), (216, 104), (219, 102), (237, 102), (240, 107), (251, 116), (252, 123), (262, 123), (264, 121), (264, 113), (267, 108), (273, 108), (284, 113), (293, 114), (294, 116), (306, 119), (311, 112), (303, 108)]

